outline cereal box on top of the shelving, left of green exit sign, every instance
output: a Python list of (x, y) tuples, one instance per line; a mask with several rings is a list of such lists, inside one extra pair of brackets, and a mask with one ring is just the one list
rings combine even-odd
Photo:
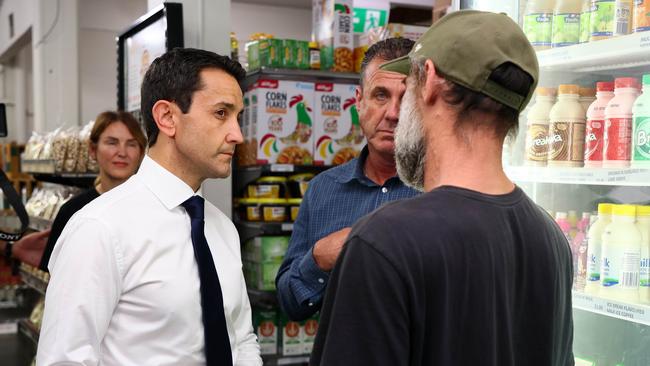
[(313, 34), (321, 49), (321, 70), (352, 72), (352, 0), (313, 0)]

